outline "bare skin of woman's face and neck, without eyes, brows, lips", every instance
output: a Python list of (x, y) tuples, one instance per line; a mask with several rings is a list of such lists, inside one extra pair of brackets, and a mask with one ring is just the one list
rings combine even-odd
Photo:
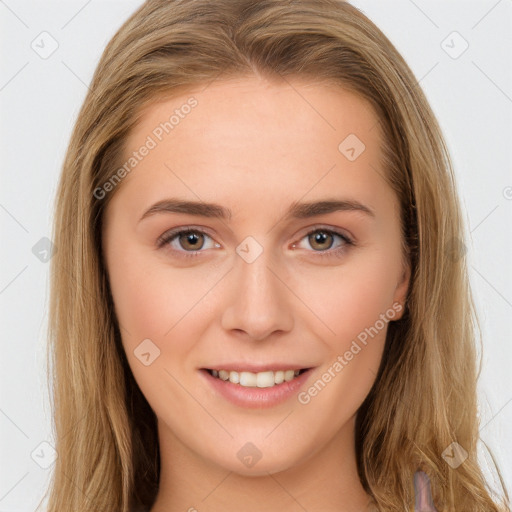
[[(272, 408), (238, 407), (199, 369), (240, 360), (315, 367), (304, 391), (380, 315), (403, 306), (410, 271), (377, 117), (334, 86), (231, 79), (146, 108), (125, 157), (191, 96), (198, 105), (118, 185), (103, 228), (123, 346), (158, 418), (162, 471), (151, 511), (369, 510), (354, 424), (387, 323), (307, 404), (293, 396)], [(338, 149), (349, 134), (366, 146), (354, 161)], [(139, 221), (171, 196), (218, 203), (232, 217), (160, 212)], [(327, 198), (357, 200), (375, 215), (284, 219), (294, 201)], [(194, 251), (186, 236), (157, 247), (166, 231), (190, 226), (207, 231), (196, 257), (180, 257)], [(318, 226), (354, 245), (336, 255), (343, 240), (329, 233), (315, 245), (308, 233)], [(248, 236), (263, 249), (252, 263), (236, 252)], [(134, 350), (148, 338), (160, 355), (146, 366)], [(262, 455), (252, 467), (237, 457), (249, 441)]]

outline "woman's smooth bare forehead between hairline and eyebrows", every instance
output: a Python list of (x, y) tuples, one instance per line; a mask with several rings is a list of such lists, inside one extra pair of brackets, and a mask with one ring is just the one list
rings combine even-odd
[[(124, 195), (164, 191), (232, 203), (291, 203), (347, 190), (382, 193), (382, 136), (371, 105), (341, 87), (247, 77), (213, 82), (147, 106), (123, 163), (151, 146), (123, 179)], [(235, 194), (235, 196), (234, 196)]]

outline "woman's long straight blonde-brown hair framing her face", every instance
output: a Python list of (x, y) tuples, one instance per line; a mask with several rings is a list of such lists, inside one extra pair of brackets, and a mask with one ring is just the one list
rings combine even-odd
[[(48, 366), (58, 458), (48, 511), (149, 509), (156, 419), (128, 366), (102, 257), (110, 198), (142, 109), (216, 79), (259, 74), (337, 84), (366, 98), (385, 135), (412, 277), (375, 384), (357, 414), (361, 482), (382, 511), (412, 510), (424, 471), (439, 511), (498, 511), (477, 462), (476, 341), (454, 175), (436, 119), (389, 40), (341, 0), (149, 0), (107, 45), (74, 127), (54, 212)], [(477, 336), (478, 334), (478, 336)], [(480, 340), (481, 342), (481, 340)], [(469, 457), (457, 469), (444, 450)], [(506, 502), (505, 502), (506, 501)]]

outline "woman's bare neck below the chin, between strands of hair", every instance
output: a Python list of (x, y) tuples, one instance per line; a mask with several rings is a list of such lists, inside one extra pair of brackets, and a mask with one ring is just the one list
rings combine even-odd
[(206, 461), (158, 422), (161, 474), (151, 512), (370, 510), (356, 466), (354, 419), (307, 460), (266, 476), (246, 476)]

